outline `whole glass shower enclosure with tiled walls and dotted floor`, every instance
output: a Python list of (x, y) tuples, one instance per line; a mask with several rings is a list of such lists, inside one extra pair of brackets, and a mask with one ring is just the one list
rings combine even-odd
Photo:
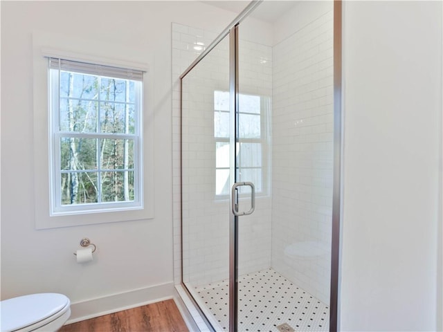
[(180, 77), (181, 284), (215, 331), (336, 329), (340, 3), (316, 2), (271, 44), (250, 3)]

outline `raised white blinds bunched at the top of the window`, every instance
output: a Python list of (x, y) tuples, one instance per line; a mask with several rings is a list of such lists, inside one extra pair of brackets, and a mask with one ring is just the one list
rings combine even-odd
[(59, 69), (61, 71), (74, 71), (76, 73), (84, 73), (90, 75), (116, 77), (122, 78), (123, 80), (143, 80), (143, 71), (138, 71), (136, 69), (104, 66), (102, 64), (89, 64), (86, 62), (57, 59), (55, 57), (49, 57), (49, 68)]

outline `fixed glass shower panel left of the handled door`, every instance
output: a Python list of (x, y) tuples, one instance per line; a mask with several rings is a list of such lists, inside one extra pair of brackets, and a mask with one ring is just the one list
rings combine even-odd
[(225, 38), (182, 81), (183, 283), (215, 331), (228, 329), (228, 55)]

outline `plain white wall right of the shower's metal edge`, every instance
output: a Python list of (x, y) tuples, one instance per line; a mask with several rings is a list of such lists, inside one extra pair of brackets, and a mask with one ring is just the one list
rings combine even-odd
[(435, 331), (442, 2), (349, 1), (343, 23), (341, 329)]

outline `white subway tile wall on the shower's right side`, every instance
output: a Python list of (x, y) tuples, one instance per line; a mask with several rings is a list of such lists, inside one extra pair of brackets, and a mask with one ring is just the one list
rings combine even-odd
[(333, 12), (273, 47), (272, 267), (329, 304)]

